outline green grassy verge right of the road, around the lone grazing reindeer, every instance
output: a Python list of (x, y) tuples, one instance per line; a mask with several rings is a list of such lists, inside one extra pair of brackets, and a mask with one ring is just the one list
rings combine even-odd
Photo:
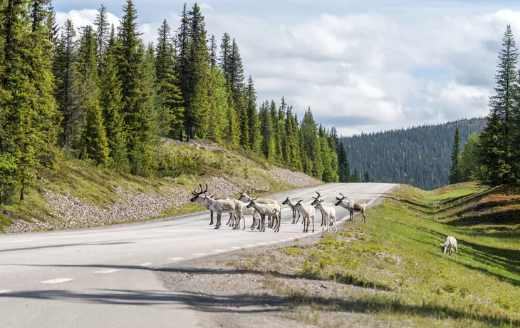
[[(315, 245), (276, 252), (298, 261), (294, 278), (362, 288), (328, 297), (284, 282), (273, 288), (294, 307), (311, 307), (313, 322), (317, 314), (356, 312), (420, 327), (519, 326), (519, 205), (514, 188), (464, 183), (425, 192), (402, 185), (368, 211), (365, 224), (355, 217)], [(457, 238), (458, 260), (440, 251), (447, 235)]]

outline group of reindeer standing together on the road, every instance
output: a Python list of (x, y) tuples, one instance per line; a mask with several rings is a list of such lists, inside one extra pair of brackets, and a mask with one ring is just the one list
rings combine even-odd
[[(314, 232), (314, 217), (316, 216), (316, 210), (321, 212), (321, 226), (323, 230), (330, 231), (334, 227), (334, 231), (338, 231), (336, 222), (336, 206), (346, 208), (350, 212), (349, 220), (354, 220), (354, 212), (361, 212), (363, 219), (361, 222), (366, 222), (365, 210), (366, 203), (350, 200), (340, 193), (341, 198), (336, 198), (336, 203), (325, 203), (321, 199), (320, 193), (317, 197), (313, 197), (313, 202), (310, 205), (303, 204), (303, 200), (293, 202), (290, 197), (280, 203), (277, 200), (269, 198), (251, 198), (251, 190), (247, 190), (247, 193), (242, 191), (239, 199), (234, 198), (213, 198), (208, 195), (206, 188), (202, 188), (199, 184), (200, 191), (192, 191), (193, 198), (190, 199), (192, 203), (198, 203), (203, 207), (206, 207), (210, 212), (211, 221), (209, 225), (214, 225), (213, 213), (217, 212), (217, 222), (215, 223), (215, 229), (219, 229), (221, 226), (222, 214), (229, 213), (229, 220), (227, 225), (233, 227), (234, 230), (240, 229), (240, 222), (244, 222), (242, 230), (246, 229), (246, 215), (252, 215), (253, 224), (251, 230), (257, 229), (261, 232), (266, 231), (266, 217), (267, 227), (274, 230), (274, 232), (280, 231), (281, 223), (281, 210), (284, 205), (291, 207), (293, 212), (293, 221), (291, 224), (297, 224), (302, 217), (303, 232), (308, 232), (308, 227), (312, 221), (312, 232)], [(248, 195), (249, 194), (249, 195)], [(298, 214), (298, 219), (296, 219)]]

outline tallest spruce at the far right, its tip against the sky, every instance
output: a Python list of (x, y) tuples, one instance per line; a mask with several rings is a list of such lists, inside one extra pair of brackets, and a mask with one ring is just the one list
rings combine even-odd
[(519, 97), (516, 63), (518, 51), (511, 32), (506, 27), (500, 62), (495, 76), (496, 94), (489, 98), (490, 113), (487, 125), (482, 130), (480, 164), (481, 180), (490, 185), (513, 183), (516, 178), (511, 172), (512, 143), (514, 140), (514, 109)]

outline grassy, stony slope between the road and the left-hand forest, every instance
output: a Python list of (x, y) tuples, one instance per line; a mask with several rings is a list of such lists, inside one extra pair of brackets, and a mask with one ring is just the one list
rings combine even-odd
[(48, 171), (28, 190), (23, 203), (0, 205), (0, 232), (92, 227), (202, 210), (189, 203), (199, 183), (208, 183), (213, 196), (236, 195), (245, 188), (261, 195), (321, 183), (204, 140), (169, 140), (156, 154), (161, 155), (162, 178), (119, 175), (81, 160), (62, 160), (58, 170)]

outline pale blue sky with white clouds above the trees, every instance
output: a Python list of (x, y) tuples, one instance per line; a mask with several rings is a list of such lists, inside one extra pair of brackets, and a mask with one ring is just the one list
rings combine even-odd
[[(126, 1), (104, 0), (117, 26)], [(58, 23), (92, 24), (100, 4), (54, 0)], [(134, 0), (145, 42), (184, 1)], [(188, 2), (187, 6), (193, 6)], [(239, 45), (258, 103), (274, 99), (340, 135), (486, 116), (507, 24), (520, 2), (492, 0), (206, 0), (209, 34)]]

